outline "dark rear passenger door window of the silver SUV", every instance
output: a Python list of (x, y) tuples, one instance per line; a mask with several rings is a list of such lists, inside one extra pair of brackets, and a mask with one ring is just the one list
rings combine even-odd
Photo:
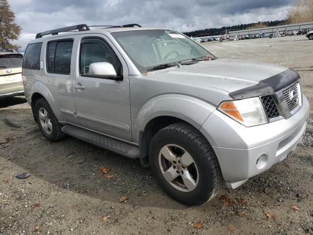
[(50, 42), (47, 45), (46, 67), (50, 73), (70, 73), (73, 41)]

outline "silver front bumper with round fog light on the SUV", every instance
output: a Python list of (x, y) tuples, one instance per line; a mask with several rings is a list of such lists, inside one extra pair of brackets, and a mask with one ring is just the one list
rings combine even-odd
[[(216, 110), (200, 131), (215, 151), (227, 187), (237, 188), (283, 161), (302, 140), (308, 118), (309, 102), (303, 95), (301, 109), (291, 118), (245, 127)], [(257, 163), (261, 155), (267, 157), (260, 168)]]

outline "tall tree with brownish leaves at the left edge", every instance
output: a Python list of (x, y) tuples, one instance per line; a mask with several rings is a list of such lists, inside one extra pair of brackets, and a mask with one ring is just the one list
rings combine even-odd
[(12, 40), (19, 39), (21, 26), (14, 23), (15, 14), (10, 9), (7, 0), (0, 0), (0, 48), (19, 49), (21, 46), (13, 45)]

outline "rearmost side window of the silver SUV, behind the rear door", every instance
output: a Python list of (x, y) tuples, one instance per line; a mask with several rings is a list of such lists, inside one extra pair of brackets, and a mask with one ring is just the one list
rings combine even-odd
[(40, 52), (43, 43), (28, 44), (23, 60), (23, 69), (40, 70)]

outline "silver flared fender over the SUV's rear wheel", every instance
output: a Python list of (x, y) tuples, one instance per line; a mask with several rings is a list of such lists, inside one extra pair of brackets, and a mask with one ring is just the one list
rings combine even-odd
[(60, 112), (60, 108), (57, 107), (56, 103), (55, 103), (55, 99), (53, 97), (53, 95), (51, 94), (50, 90), (47, 88), (47, 86), (45, 85), (45, 83), (37, 80), (35, 81), (32, 86), (31, 86), (31, 97), (33, 96), (33, 94), (35, 93), (39, 93), (42, 96), (44, 96), (44, 98), (46, 99), (46, 101), (48, 102), (48, 104), (50, 105), (53, 114), (55, 115), (55, 117), (58, 120), (63, 120), (61, 112)]

